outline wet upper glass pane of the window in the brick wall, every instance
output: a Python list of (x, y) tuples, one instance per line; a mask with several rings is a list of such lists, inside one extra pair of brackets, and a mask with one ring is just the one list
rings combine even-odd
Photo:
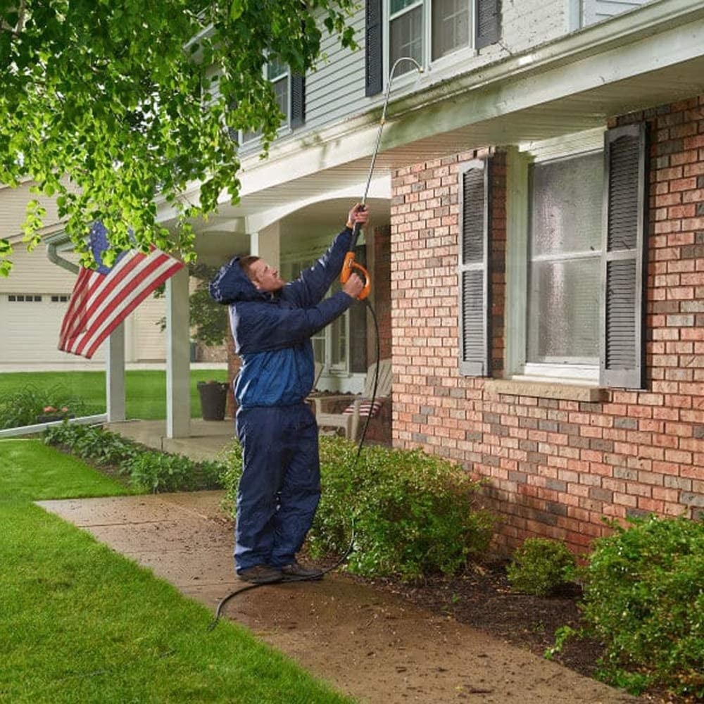
[(603, 154), (532, 167), (532, 255), (601, 250)]

